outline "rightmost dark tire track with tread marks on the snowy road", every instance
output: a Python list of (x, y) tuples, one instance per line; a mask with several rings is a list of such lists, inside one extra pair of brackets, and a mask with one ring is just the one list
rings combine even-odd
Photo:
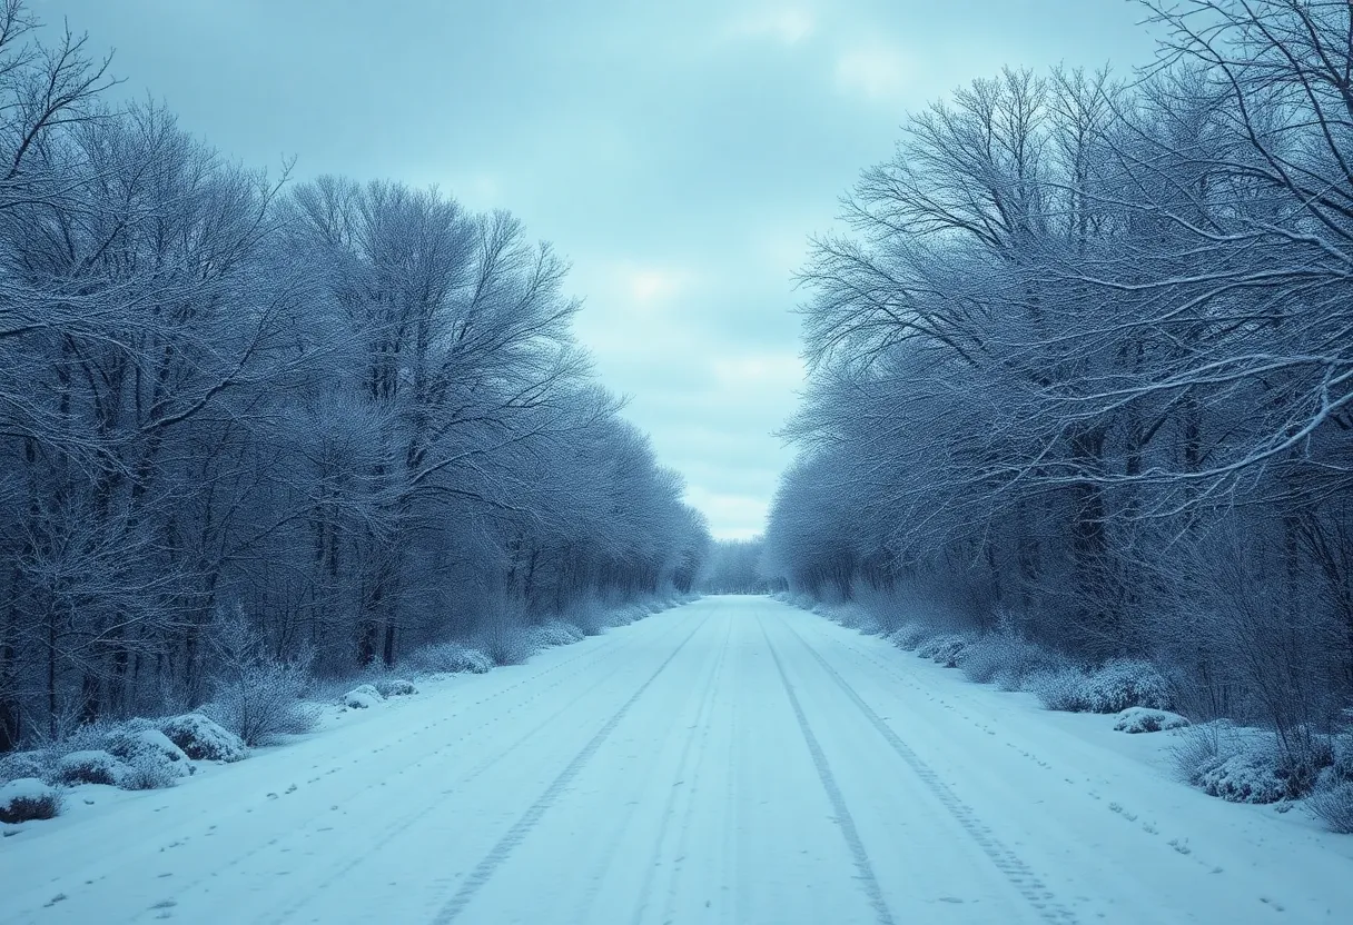
[[(1076, 914), (1059, 905), (1047, 888), (1047, 886), (1030, 870), (1028, 864), (1019, 859), (1019, 856), (1007, 848), (1000, 838), (992, 832), (992, 829), (978, 818), (977, 813), (965, 803), (958, 795), (950, 790), (940, 776), (931, 768), (921, 757), (912, 751), (912, 748), (901, 740), (901, 737), (893, 732), (884, 719), (874, 711), (869, 703), (855, 691), (850, 683), (840, 676), (840, 673), (832, 668), (832, 665), (817, 652), (812, 645), (809, 645), (802, 636), (798, 634), (789, 623), (783, 625), (785, 629), (793, 636), (800, 645), (802, 645), (808, 653), (823, 667), (823, 671), (836, 682), (838, 687), (850, 698), (851, 703), (859, 707), (859, 711), (865, 714), (869, 724), (884, 737), (898, 757), (902, 759), (911, 767), (912, 772), (920, 778), (921, 783), (935, 795), (935, 798), (948, 810), (950, 815), (963, 828), (963, 830), (977, 843), (982, 852), (992, 860), (996, 868), (1005, 875), (1005, 879), (1024, 897), (1039, 916), (1050, 922), (1061, 922), (1062, 925), (1070, 925), (1077, 921)], [(764, 627), (762, 629), (764, 632)], [(771, 650), (774, 655), (774, 649)], [(777, 661), (778, 664), (778, 661)]]

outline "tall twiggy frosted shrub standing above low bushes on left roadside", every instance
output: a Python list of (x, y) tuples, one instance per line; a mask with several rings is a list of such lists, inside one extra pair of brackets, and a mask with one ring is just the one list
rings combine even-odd
[(212, 648), (219, 668), (214, 699), (202, 709), (207, 717), (249, 746), (315, 728), (318, 711), (302, 702), (310, 686), (308, 653), (294, 660), (269, 656), (264, 638), (239, 610), (218, 618)]

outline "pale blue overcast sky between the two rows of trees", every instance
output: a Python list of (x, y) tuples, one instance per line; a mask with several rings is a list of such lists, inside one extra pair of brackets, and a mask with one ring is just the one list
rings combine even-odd
[(578, 333), (720, 537), (801, 384), (792, 275), (908, 110), (1001, 65), (1120, 70), (1127, 0), (34, 0), (119, 93), (296, 176), (436, 183), (574, 265)]

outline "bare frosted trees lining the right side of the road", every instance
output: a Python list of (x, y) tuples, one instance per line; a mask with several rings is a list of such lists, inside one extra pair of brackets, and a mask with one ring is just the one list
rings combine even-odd
[(844, 199), (767, 559), (1299, 749), (1353, 705), (1353, 8), (1146, 9), (1151, 68), (974, 81)]

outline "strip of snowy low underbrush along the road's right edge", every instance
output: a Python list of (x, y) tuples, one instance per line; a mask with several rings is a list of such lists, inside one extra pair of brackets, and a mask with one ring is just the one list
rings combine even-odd
[(1174, 711), (1180, 705), (1172, 684), (1150, 661), (1082, 665), (1008, 629), (977, 634), (911, 619), (885, 630), (890, 621), (871, 615), (871, 607), (775, 596), (958, 668), (973, 682), (1032, 694), (1049, 710), (1114, 714), (1112, 728), (1123, 733), (1168, 732), (1176, 737), (1170, 752), (1178, 775), (1199, 790), (1230, 802), (1273, 803), (1280, 811), (1302, 801), (1329, 829), (1353, 833), (1353, 729), (1298, 728), (1280, 736), (1229, 719), (1191, 724)]

